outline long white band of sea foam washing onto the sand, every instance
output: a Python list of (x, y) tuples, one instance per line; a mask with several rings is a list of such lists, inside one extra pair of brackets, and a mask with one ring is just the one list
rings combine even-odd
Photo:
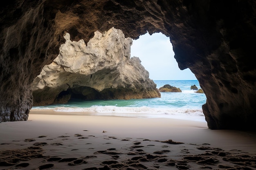
[(79, 113), (80, 115), (121, 116), (121, 117), (146, 117), (146, 118), (175, 118), (196, 121), (205, 121), (202, 109), (188, 108), (150, 108), (143, 107), (117, 107), (117, 106), (92, 106), (81, 107), (33, 107), (31, 110), (49, 110), (55, 112)]

